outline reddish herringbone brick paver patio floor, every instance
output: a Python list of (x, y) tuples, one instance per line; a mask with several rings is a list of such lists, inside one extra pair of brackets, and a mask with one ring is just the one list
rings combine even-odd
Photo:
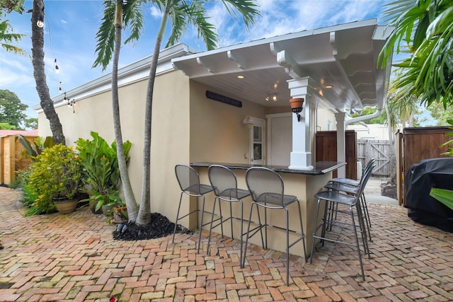
[(453, 301), (453, 234), (402, 207), (369, 204), (365, 282), (353, 248), (326, 245), (313, 264), (292, 257), (286, 286), (281, 252), (251, 245), (241, 269), (239, 240), (216, 235), (210, 255), (196, 233), (115, 241), (89, 210), (24, 218), (18, 197), (0, 187), (0, 301)]

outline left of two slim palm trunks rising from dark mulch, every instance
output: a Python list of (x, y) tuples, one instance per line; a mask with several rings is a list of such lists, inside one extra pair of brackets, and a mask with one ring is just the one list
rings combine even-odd
[(135, 202), (134, 192), (130, 183), (129, 173), (125, 158), (125, 151), (122, 145), (121, 120), (120, 120), (120, 100), (118, 95), (118, 62), (120, 60), (122, 36), (122, 0), (117, 1), (115, 11), (115, 50), (112, 62), (112, 109), (113, 109), (113, 129), (115, 131), (116, 150), (118, 158), (118, 168), (120, 169), (122, 191), (125, 194), (127, 216), (129, 221), (135, 221), (138, 214), (137, 202)]

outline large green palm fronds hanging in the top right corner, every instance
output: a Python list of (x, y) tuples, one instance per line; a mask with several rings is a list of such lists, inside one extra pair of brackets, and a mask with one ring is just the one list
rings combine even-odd
[(386, 4), (384, 20), (395, 30), (379, 59), (382, 64), (393, 52), (410, 57), (396, 64), (405, 72), (395, 85), (427, 107), (434, 101), (453, 104), (453, 1), (396, 0)]

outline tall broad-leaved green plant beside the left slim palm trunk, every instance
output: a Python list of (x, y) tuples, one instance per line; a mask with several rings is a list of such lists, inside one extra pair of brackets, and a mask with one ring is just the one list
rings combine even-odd
[[(83, 166), (84, 182), (89, 197), (91, 211), (101, 213), (103, 205), (114, 206), (120, 202), (118, 185), (120, 169), (118, 168), (115, 141), (109, 146), (97, 132), (91, 132), (93, 139), (79, 139), (76, 149)], [(124, 144), (126, 161), (129, 160), (130, 141)]]

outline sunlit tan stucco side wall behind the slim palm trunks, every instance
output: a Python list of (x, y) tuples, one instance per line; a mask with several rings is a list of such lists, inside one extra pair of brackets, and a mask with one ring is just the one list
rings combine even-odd
[[(162, 74), (156, 79), (153, 104), (151, 149), (151, 211), (158, 211), (172, 221), (179, 201), (176, 163), (189, 163), (189, 79), (180, 71)], [(130, 179), (139, 202), (142, 191), (142, 153), (144, 133), (144, 96), (147, 81), (120, 87), (122, 137), (132, 142)], [(63, 124), (67, 144), (79, 137), (90, 138), (91, 130), (108, 143), (114, 139), (111, 93), (105, 92), (77, 100), (75, 113), (67, 105), (56, 108)], [(49, 123), (39, 115), (40, 136), (51, 136)], [(183, 211), (184, 209), (182, 209)]]

